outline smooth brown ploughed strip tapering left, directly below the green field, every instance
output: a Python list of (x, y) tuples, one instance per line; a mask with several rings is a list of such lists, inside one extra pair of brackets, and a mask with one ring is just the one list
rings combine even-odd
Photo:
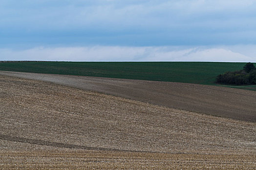
[(68, 85), (219, 117), (256, 121), (256, 91), (210, 85), (10, 71), (0, 71), (0, 75)]

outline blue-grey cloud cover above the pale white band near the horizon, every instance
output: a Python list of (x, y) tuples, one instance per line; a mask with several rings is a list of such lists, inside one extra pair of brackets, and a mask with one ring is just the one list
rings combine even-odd
[(2, 0), (0, 44), (255, 44), (255, 11), (255, 0)]

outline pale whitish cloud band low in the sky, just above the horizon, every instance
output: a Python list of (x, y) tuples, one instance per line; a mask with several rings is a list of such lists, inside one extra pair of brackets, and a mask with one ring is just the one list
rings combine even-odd
[(38, 47), (27, 50), (0, 49), (0, 60), (256, 62), (256, 56), (252, 55), (255, 49), (256, 46)]

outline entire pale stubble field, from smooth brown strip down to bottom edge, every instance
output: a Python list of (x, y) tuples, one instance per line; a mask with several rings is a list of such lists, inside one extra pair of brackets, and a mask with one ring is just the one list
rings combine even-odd
[(1, 75), (0, 167), (256, 169), (256, 124)]

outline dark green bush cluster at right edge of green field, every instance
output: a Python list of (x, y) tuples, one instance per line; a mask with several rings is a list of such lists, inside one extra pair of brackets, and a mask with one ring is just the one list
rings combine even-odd
[(228, 85), (256, 85), (256, 68), (253, 63), (247, 63), (242, 70), (228, 71), (216, 78), (216, 83)]

